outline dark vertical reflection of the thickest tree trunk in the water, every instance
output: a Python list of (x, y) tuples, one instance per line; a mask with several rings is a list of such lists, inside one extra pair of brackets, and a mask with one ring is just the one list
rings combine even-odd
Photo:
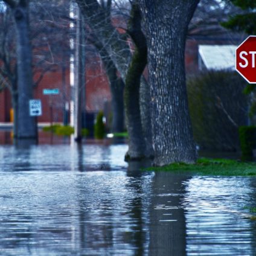
[(150, 255), (186, 255), (186, 228), (182, 198), (188, 177), (156, 173), (150, 205)]

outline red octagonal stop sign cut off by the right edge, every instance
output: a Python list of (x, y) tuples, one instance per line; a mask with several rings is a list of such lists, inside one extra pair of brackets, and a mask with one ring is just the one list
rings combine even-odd
[(256, 83), (256, 36), (248, 36), (235, 50), (235, 69), (248, 83)]

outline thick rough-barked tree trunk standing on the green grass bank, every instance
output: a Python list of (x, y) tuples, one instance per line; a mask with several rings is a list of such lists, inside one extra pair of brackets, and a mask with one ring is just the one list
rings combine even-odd
[(199, 0), (139, 0), (147, 33), (155, 165), (196, 160), (185, 86), (187, 27)]

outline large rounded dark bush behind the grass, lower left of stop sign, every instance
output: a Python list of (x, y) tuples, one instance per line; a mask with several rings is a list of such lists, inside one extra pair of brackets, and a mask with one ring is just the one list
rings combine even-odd
[(191, 123), (200, 149), (240, 150), (238, 127), (248, 123), (245, 81), (235, 72), (208, 71), (187, 83)]

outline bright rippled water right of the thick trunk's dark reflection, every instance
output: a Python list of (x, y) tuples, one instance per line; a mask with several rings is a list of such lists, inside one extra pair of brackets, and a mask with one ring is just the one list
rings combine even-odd
[[(256, 255), (256, 179), (200, 178), (186, 182), (189, 255)], [(254, 219), (254, 220), (253, 220)]]

